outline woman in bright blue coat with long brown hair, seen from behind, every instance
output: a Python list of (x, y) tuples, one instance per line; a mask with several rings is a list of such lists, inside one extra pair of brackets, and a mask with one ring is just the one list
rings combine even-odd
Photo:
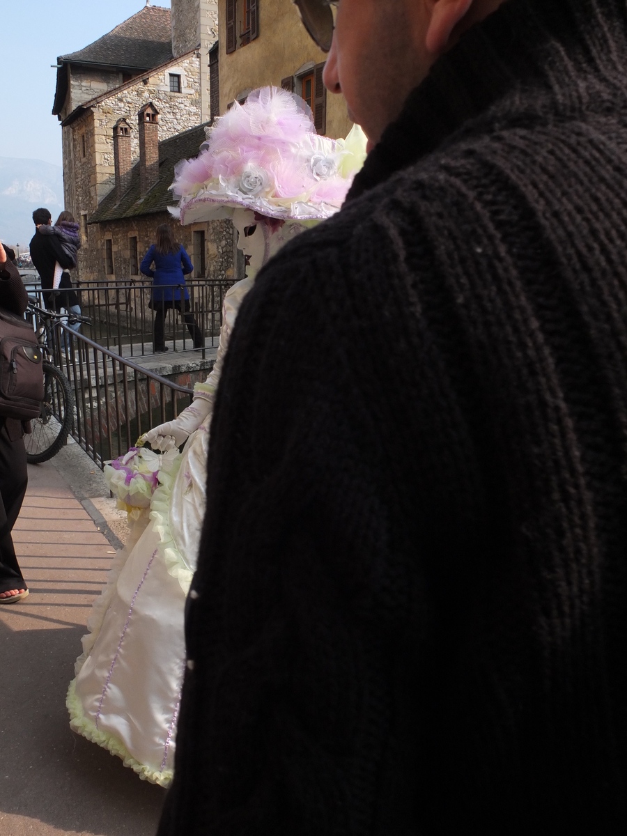
[[(155, 269), (151, 269), (151, 264)], [(181, 244), (176, 243), (172, 227), (162, 223), (156, 229), (156, 243), (150, 247), (140, 265), (140, 272), (152, 279), (150, 308), (155, 311), (155, 334), (153, 351), (160, 354), (167, 351), (164, 339), (166, 314), (176, 308), (181, 314), (194, 341), (194, 348), (201, 349), (205, 343), (196, 319), (190, 313), (190, 296), (185, 285), (185, 274), (193, 270), (190, 257)], [(182, 287), (176, 287), (181, 285)], [(181, 298), (181, 292), (184, 298)]]

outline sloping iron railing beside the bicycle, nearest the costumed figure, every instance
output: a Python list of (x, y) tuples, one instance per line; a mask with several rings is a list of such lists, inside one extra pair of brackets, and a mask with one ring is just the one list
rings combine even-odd
[(99, 467), (123, 456), (145, 431), (170, 421), (191, 404), (206, 370), (183, 373), (187, 385), (168, 380), (132, 360), (75, 334), (61, 323), (48, 345), (74, 392), (71, 434)]

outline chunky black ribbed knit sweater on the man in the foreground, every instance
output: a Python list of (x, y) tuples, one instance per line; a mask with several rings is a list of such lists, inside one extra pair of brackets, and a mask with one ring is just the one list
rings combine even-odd
[(623, 0), (509, 0), (260, 273), (161, 834), (627, 833), (626, 172)]

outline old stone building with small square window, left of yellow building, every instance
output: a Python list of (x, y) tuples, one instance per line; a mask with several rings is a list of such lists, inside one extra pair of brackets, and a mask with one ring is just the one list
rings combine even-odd
[[(93, 219), (107, 197), (121, 200), (127, 182), (118, 178), (116, 187), (120, 119), (128, 131), (127, 174), (140, 160), (142, 123), (137, 119), (146, 104), (158, 113), (161, 140), (209, 120), (209, 52), (216, 41), (216, 0), (171, 0), (171, 9), (146, 0), (145, 8), (110, 33), (57, 60), (53, 113), (63, 130), (65, 208), (79, 220), (83, 237), (76, 277), (81, 282), (104, 281), (108, 275), (99, 263), (104, 239)], [(201, 141), (190, 155), (198, 153)], [(135, 208), (139, 217), (141, 206)], [(160, 222), (156, 214), (147, 213), (149, 227)], [(208, 246), (209, 227), (206, 234)], [(209, 255), (208, 250), (205, 263), (211, 263)]]

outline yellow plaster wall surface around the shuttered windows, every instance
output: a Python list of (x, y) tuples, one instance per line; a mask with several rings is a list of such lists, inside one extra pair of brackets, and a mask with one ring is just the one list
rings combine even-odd
[[(242, 3), (243, 0), (238, 0)], [(219, 0), (218, 28), (220, 38), (220, 113), (243, 90), (266, 84), (281, 86), (281, 79), (293, 75), (303, 64), (315, 64), (326, 55), (309, 38), (298, 18), (292, 0), (259, 0), (259, 37), (247, 46), (237, 47), (228, 54), (227, 3)], [(238, 35), (239, 33), (237, 33)], [(239, 43), (239, 38), (237, 38)], [(300, 93), (297, 89), (296, 93)], [(353, 123), (346, 115), (344, 96), (327, 92), (327, 130), (332, 139), (346, 136)]]

